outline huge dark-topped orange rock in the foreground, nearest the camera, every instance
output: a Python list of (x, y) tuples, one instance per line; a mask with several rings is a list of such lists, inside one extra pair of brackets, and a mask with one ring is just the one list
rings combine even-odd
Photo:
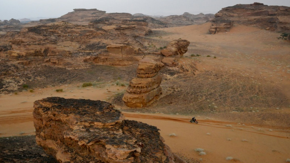
[(107, 102), (44, 98), (33, 116), (37, 144), (61, 163), (174, 163), (156, 127), (124, 120)]

